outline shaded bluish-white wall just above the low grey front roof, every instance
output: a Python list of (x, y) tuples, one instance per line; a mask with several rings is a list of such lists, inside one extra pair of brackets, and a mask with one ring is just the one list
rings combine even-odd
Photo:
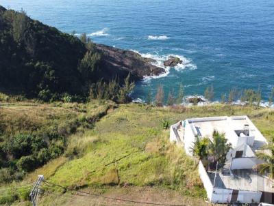
[(230, 169), (250, 169), (253, 168), (256, 164), (262, 163), (261, 160), (254, 158), (233, 158)]

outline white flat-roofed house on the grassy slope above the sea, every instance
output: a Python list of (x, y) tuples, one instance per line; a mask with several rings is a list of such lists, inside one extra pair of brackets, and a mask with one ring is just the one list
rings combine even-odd
[(225, 166), (209, 170), (199, 162), (199, 175), (212, 203), (274, 203), (274, 182), (259, 175), (253, 168), (262, 160), (256, 151), (268, 144), (249, 117), (206, 117), (186, 119), (171, 126), (170, 141), (184, 147), (192, 156), (190, 148), (196, 140), (208, 137), (216, 130), (224, 133), (232, 149), (227, 153)]

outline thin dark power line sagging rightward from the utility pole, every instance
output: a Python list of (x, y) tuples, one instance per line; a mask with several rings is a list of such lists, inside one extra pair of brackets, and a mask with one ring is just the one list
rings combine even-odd
[(138, 203), (138, 204), (143, 204), (143, 205), (162, 205), (162, 206), (187, 206), (187, 205), (173, 205), (173, 204), (164, 204), (164, 203), (147, 203), (147, 202), (141, 202), (141, 201), (132, 201), (132, 200), (128, 200), (128, 199), (123, 199), (123, 198), (114, 198), (114, 197), (110, 197), (110, 196), (103, 196), (101, 194), (94, 194), (94, 193), (90, 193), (90, 192), (84, 192), (84, 191), (80, 191), (80, 190), (73, 190), (71, 188), (67, 188), (65, 186), (60, 186), (56, 183), (51, 183), (49, 181), (45, 181), (43, 180), (45, 183), (49, 183), (53, 186), (57, 186), (59, 188), (63, 188), (64, 190), (71, 190), (71, 191), (75, 191), (75, 192), (79, 192), (79, 193), (82, 193), (82, 194), (88, 194), (88, 195), (91, 195), (91, 196), (98, 196), (98, 197), (101, 197), (101, 198), (108, 198), (108, 199), (111, 199), (111, 200), (114, 200), (114, 201), (123, 201), (123, 202), (127, 202), (127, 203)]

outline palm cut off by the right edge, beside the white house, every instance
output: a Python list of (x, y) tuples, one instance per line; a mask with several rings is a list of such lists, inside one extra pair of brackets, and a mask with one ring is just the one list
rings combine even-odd
[(256, 153), (256, 156), (264, 160), (264, 163), (257, 164), (256, 168), (261, 175), (267, 173), (271, 179), (274, 179), (274, 136), (271, 137), (269, 144), (262, 146), (261, 149), (263, 151)]

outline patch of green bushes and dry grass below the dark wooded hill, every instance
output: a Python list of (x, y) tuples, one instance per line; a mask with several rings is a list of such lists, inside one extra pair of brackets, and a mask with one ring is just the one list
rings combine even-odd
[[(23, 179), (26, 173), (64, 153), (71, 134), (91, 128), (110, 104), (1, 105), (0, 183)], [(97, 113), (93, 113), (96, 108)]]

